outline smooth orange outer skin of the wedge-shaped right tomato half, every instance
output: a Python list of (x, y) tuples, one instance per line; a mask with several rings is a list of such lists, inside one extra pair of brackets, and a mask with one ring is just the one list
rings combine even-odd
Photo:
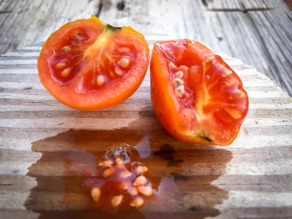
[[(173, 42), (175, 41), (176, 40), (173, 40)], [(196, 59), (196, 61), (201, 62), (205, 55), (214, 55), (202, 44), (195, 41), (192, 42), (195, 43), (195, 47), (197, 49), (196, 53), (193, 54), (193, 58)], [(162, 55), (161, 51), (158, 50), (158, 46), (154, 45), (150, 59), (151, 103), (160, 124), (172, 136), (185, 142), (204, 145), (230, 145), (236, 139), (242, 122), (233, 126), (233, 128), (230, 129), (231, 131), (228, 130), (232, 135), (229, 139), (212, 139), (212, 141), (206, 140), (199, 135), (190, 134), (190, 132), (185, 128), (185, 118), (180, 115), (178, 110), (178, 108), (180, 108), (178, 106), (179, 104), (175, 98), (173, 98), (175, 93), (172, 88), (172, 81), (169, 77), (169, 70), (163, 63), (163, 59), (164, 55)], [(239, 78), (238, 81), (242, 86), (242, 82)], [(243, 90), (243, 92), (246, 95), (246, 105), (248, 110), (248, 96), (246, 91)]]

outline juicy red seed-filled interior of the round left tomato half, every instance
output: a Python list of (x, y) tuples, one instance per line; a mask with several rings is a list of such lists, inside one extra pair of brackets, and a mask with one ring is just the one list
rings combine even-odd
[(54, 79), (67, 84), (82, 69), (75, 91), (86, 93), (104, 89), (127, 74), (136, 61), (135, 44), (108, 40), (107, 35), (88, 36), (78, 28), (57, 41), (48, 58)]

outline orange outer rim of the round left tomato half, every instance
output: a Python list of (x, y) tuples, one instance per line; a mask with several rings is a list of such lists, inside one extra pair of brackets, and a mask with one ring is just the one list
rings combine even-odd
[[(134, 83), (131, 83), (127, 89), (124, 91), (116, 92), (114, 96), (111, 96), (105, 101), (96, 101), (96, 103), (83, 104), (82, 102), (74, 101), (73, 97), (64, 98), (64, 89), (61, 88), (62, 85), (55, 83), (50, 75), (50, 67), (47, 63), (47, 58), (51, 55), (52, 48), (55, 46), (55, 42), (58, 38), (62, 37), (62, 35), (66, 34), (66, 32), (73, 27), (83, 27), (83, 28), (91, 28), (95, 32), (102, 33), (104, 31), (104, 25), (102, 21), (94, 16), (91, 19), (80, 19), (69, 22), (63, 25), (59, 30), (55, 31), (45, 42), (43, 45), (42, 51), (40, 55), (37, 57), (37, 69), (38, 76), (40, 78), (40, 82), (42, 85), (62, 104), (71, 107), (77, 110), (101, 110), (117, 105), (126, 99), (128, 99), (142, 84), (142, 81), (146, 75), (147, 67), (149, 63), (149, 47), (148, 44), (143, 37), (142, 34), (136, 32), (131, 27), (121, 27), (120, 34), (123, 37), (127, 36), (135, 36), (139, 41), (139, 52), (143, 52), (145, 54), (145, 58), (143, 63), (139, 63), (138, 66), (142, 66), (139, 70), (141, 71), (138, 76), (136, 76), (136, 80)], [(143, 42), (143, 43), (141, 43)], [(54, 89), (52, 89), (54, 88)], [(71, 91), (68, 91), (71, 92)], [(102, 95), (102, 94), (99, 94)], [(78, 96), (78, 94), (76, 94)], [(85, 97), (86, 98), (86, 97)]]

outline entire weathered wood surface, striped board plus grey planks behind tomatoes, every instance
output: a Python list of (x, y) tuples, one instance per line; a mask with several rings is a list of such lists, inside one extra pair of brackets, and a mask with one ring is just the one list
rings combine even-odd
[[(119, 218), (292, 218), (292, 98), (283, 92), (292, 93), (291, 11), (281, 0), (125, 2), (120, 10), (111, 0), (0, 1), (0, 49), (21, 48), (0, 56), (0, 219), (109, 218), (91, 209), (81, 176), (123, 143), (158, 179), (158, 193)], [(133, 96), (107, 110), (56, 101), (39, 82), (36, 42), (90, 13), (131, 25), (150, 49), (185, 37), (221, 52), (250, 97), (236, 141), (219, 147), (171, 137), (154, 116), (149, 73)]]

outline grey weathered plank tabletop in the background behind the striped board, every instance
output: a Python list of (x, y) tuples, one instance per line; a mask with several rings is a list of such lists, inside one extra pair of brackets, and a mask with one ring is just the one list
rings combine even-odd
[(200, 41), (253, 66), (292, 96), (292, 11), (283, 0), (119, 2), (0, 0), (0, 54), (45, 41), (66, 22), (94, 14), (144, 35)]

